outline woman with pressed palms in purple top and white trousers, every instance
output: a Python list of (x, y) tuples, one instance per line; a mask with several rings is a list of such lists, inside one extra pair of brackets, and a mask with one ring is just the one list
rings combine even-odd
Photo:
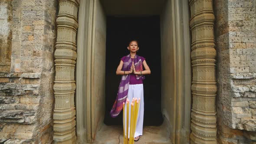
[[(138, 111), (137, 125), (136, 125), (136, 130), (134, 135), (135, 136), (134, 141), (138, 141), (139, 136), (142, 135), (143, 115), (144, 115), (144, 98), (143, 98), (143, 81), (142, 80), (145, 79), (144, 75), (150, 74), (151, 71), (148, 67), (147, 62), (145, 61), (145, 58), (142, 56), (136, 55), (136, 52), (139, 50), (137, 40), (132, 40), (129, 43), (127, 49), (130, 51), (130, 54), (128, 56), (124, 56), (121, 58), (121, 61), (116, 70), (116, 74), (122, 75), (122, 77), (121, 77), (121, 82), (118, 88), (117, 99), (110, 113), (111, 113), (111, 116), (115, 118), (121, 112), (123, 108), (123, 102), (126, 101), (126, 98), (128, 98), (129, 101), (132, 101), (132, 98), (141, 98), (139, 111)], [(143, 70), (143, 66), (145, 70)], [(129, 109), (129, 111), (130, 110), (131, 109)], [(129, 115), (129, 120), (130, 120), (130, 115)], [(126, 114), (125, 114), (125, 124), (126, 124)], [(130, 125), (130, 121), (129, 121), (129, 125)], [(128, 132), (128, 137), (130, 137), (129, 133), (130, 132)]]

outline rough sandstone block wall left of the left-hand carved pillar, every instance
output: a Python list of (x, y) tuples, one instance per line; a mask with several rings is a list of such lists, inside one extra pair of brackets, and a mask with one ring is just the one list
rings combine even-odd
[(56, 0), (0, 2), (0, 143), (53, 141), (56, 9)]

